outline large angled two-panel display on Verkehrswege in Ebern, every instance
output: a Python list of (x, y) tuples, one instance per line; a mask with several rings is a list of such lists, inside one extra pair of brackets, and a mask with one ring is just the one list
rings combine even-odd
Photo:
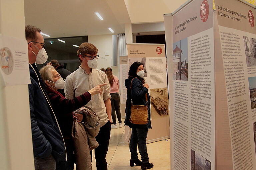
[(165, 14), (172, 170), (256, 169), (255, 6), (191, 0)]

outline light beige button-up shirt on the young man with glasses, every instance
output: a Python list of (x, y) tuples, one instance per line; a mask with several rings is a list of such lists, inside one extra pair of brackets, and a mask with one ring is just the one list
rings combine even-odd
[(108, 122), (108, 115), (104, 103), (105, 100), (111, 98), (107, 75), (98, 69), (92, 69), (92, 71), (87, 74), (85, 70), (79, 66), (76, 71), (66, 78), (64, 87), (65, 97), (67, 99), (73, 99), (103, 83), (107, 83), (107, 85), (101, 87), (103, 89), (102, 94), (92, 96), (91, 101), (86, 105), (92, 108), (94, 112), (99, 115), (100, 127)]

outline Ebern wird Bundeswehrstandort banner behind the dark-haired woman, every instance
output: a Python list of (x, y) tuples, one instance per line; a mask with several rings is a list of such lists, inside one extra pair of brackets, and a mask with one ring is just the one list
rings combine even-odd
[(147, 143), (169, 138), (167, 67), (164, 44), (127, 43), (128, 67), (139, 61), (144, 65), (144, 80), (149, 85), (151, 125)]

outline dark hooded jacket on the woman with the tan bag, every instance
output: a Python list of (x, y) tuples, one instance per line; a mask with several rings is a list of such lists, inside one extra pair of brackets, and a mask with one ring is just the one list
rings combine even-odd
[[(125, 125), (130, 128), (151, 128), (150, 122), (150, 96), (148, 94), (148, 89), (143, 86), (141, 80), (138, 78), (133, 79), (132, 81), (132, 89), (131, 86), (132, 78), (128, 78), (125, 80), (125, 87), (127, 88), (127, 96), (126, 96), (126, 108), (125, 108)], [(131, 117), (131, 98), (133, 101), (133, 105), (144, 105), (146, 106), (146, 97), (145, 94), (148, 95), (148, 123), (145, 125), (135, 125), (130, 122)]]

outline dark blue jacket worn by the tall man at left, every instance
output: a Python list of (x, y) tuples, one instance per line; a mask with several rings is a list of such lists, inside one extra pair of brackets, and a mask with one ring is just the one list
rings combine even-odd
[(47, 102), (49, 99), (44, 91), (41, 75), (35, 64), (32, 66), (36, 73), (29, 65), (31, 84), (28, 85), (28, 90), (34, 156), (46, 158), (52, 154), (56, 160), (65, 161), (66, 150), (62, 134), (50, 103)]

